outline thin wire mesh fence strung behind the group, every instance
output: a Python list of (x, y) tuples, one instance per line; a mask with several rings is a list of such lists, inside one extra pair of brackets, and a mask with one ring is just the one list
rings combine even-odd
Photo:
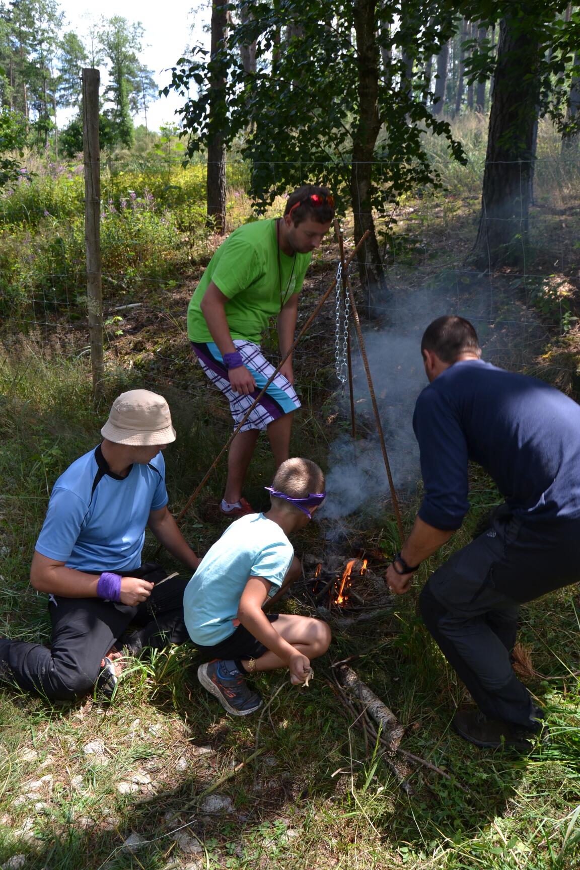
[[(484, 341), (502, 347), (504, 362), (527, 365), (547, 338), (570, 333), (576, 324), (580, 160), (538, 157), (528, 243), (518, 266), (496, 272), (466, 265), (477, 235), (483, 157), (461, 167), (436, 155), (434, 165), (442, 190), (418, 190), (388, 204), (384, 216), (374, 216), (381, 263), (367, 248), (365, 264), (381, 265), (385, 286), (363, 289), (351, 269), (361, 311), (412, 333), (438, 314), (459, 313), (474, 322)], [(269, 166), (277, 184), (282, 166), (276, 161)], [(226, 164), (228, 231), (255, 217), (248, 193), (255, 169), (240, 159)], [(295, 169), (300, 174), (301, 164)], [(321, 164), (322, 171), (331, 175), (331, 164)], [(119, 339), (146, 329), (148, 318), (160, 318), (166, 334), (170, 329), (176, 340), (183, 339), (187, 300), (221, 241), (206, 221), (206, 172), (203, 159), (184, 168), (182, 155), (163, 148), (103, 160), (103, 320), (110, 359), (117, 357)], [(316, 179), (304, 171), (302, 180)], [(282, 211), (283, 200), (277, 199), (266, 216)], [(356, 212), (355, 203), (343, 218), (347, 247)], [(315, 252), (307, 285), (320, 288), (337, 261), (329, 235)], [(82, 163), (32, 161), (13, 189), (3, 192), (0, 266), (4, 331), (36, 329), (61, 342), (66, 331), (71, 348), (82, 353), (87, 344)], [(167, 351), (167, 371), (186, 344), (177, 341), (175, 359)]]

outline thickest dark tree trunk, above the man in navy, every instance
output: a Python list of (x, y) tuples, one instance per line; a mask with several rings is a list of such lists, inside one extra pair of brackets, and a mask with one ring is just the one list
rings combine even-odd
[(471, 253), (479, 268), (520, 264), (528, 236), (540, 45), (513, 18), (500, 22), (482, 212)]

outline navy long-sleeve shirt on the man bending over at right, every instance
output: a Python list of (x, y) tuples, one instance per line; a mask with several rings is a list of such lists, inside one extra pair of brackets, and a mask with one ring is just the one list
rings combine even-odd
[(580, 517), (580, 406), (536, 378), (481, 359), (457, 362), (417, 398), (413, 428), (425, 495), (419, 517), (457, 529), (469, 510), (468, 460), (527, 520)]

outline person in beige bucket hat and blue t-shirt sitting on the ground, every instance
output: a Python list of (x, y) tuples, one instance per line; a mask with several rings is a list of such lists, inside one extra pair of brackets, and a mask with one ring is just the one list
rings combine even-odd
[(160, 583), (163, 567), (141, 562), (149, 526), (185, 566), (199, 564), (167, 509), (169, 406), (148, 390), (124, 392), (101, 434), (57, 479), (32, 559), (30, 583), (49, 594), (51, 647), (0, 639), (0, 680), (49, 699), (77, 698), (96, 683), (110, 697), (123, 652), (187, 639), (183, 579)]

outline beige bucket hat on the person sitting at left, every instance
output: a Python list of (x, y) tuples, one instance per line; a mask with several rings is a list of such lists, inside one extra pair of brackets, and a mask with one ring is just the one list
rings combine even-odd
[(176, 439), (170, 406), (163, 396), (149, 390), (122, 392), (113, 402), (101, 435), (115, 444), (140, 447), (170, 444)]

